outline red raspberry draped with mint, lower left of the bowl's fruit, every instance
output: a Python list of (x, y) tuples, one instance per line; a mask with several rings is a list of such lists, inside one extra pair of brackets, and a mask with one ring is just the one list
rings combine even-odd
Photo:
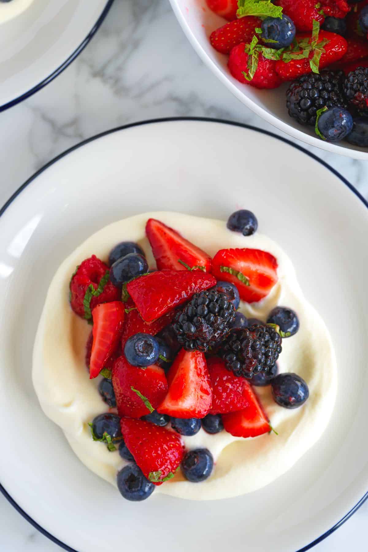
[(228, 68), (234, 78), (243, 84), (250, 84), (255, 88), (277, 88), (281, 84), (281, 78), (278, 73), (276, 73), (276, 61), (267, 60), (259, 53), (258, 56), (258, 65), (255, 70), (254, 76), (252, 79), (247, 80), (244, 77), (245, 73), (249, 77), (249, 68), (248, 68), (248, 56), (245, 51), (248, 45), (245, 43), (238, 44), (234, 46), (230, 52), (230, 57), (228, 61)]

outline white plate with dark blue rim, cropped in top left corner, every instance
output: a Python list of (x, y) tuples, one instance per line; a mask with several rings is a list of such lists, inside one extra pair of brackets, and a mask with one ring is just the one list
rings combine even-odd
[(0, 111), (37, 92), (76, 59), (113, 1), (33, 0), (0, 24)]

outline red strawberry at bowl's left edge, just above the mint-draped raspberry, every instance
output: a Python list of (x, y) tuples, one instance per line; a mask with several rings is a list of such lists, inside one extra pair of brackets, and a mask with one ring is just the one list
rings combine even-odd
[(252, 15), (236, 19), (213, 31), (210, 35), (210, 43), (221, 54), (230, 54), (230, 50), (234, 46), (242, 42), (252, 42), (255, 29), (261, 24), (262, 19)]

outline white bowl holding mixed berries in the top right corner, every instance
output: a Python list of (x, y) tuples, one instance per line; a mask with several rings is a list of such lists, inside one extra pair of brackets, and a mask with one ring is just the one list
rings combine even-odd
[(228, 56), (216, 52), (209, 41), (212, 31), (227, 22), (207, 8), (206, 0), (170, 0), (170, 3), (184, 33), (207, 67), (257, 115), (306, 144), (347, 157), (368, 160), (368, 148), (351, 146), (348, 142), (331, 144), (323, 141), (314, 134), (313, 128), (300, 125), (292, 119), (286, 109), (287, 84), (274, 90), (258, 90), (233, 78), (227, 68)]

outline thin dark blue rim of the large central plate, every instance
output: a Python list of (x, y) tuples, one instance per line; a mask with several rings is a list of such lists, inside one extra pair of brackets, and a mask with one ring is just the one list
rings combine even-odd
[[(111, 3), (113, 1), (114, 0), (111, 0)], [(225, 119), (216, 119), (216, 118), (207, 118), (207, 117), (167, 117), (167, 118), (159, 118), (159, 119), (147, 119), (147, 120), (143, 120), (143, 121), (137, 121), (136, 123), (129, 123), (127, 125), (117, 126), (113, 129), (105, 130), (104, 132), (100, 132), (100, 134), (97, 134), (95, 136), (91, 136), (90, 138), (87, 138), (86, 140), (83, 140), (83, 141), (79, 142), (79, 144), (76, 144), (76, 145), (68, 148), (68, 150), (63, 151), (62, 153), (60, 153), (59, 155), (54, 157), (54, 159), (49, 161), (49, 163), (46, 163), (43, 167), (41, 167), (38, 171), (36, 171), (26, 182), (24, 182), (24, 184), (22, 184), (14, 192), (14, 194), (6, 201), (6, 203), (0, 209), (0, 217), (5, 213), (5, 211), (13, 203), (13, 201), (15, 199), (17, 199), (18, 195), (20, 193), (22, 193), (23, 190), (26, 187), (28, 187), (29, 184), (34, 182), (36, 180), (36, 178), (41, 173), (43, 173), (47, 168), (49, 168), (51, 165), (53, 165), (57, 161), (61, 160), (63, 157), (66, 157), (69, 153), (72, 153), (73, 151), (77, 150), (79, 147), (82, 147), (82, 146), (84, 146), (84, 145), (86, 145), (89, 142), (92, 142), (94, 140), (98, 140), (99, 138), (102, 138), (103, 136), (113, 134), (114, 132), (119, 132), (121, 130), (127, 130), (127, 129), (130, 129), (130, 128), (134, 128), (136, 126), (143, 126), (143, 125), (157, 124), (157, 123), (170, 123), (170, 122), (174, 122), (174, 121), (197, 121), (197, 122), (202, 121), (202, 122), (205, 122), (205, 123), (221, 123), (221, 124), (226, 124), (226, 125), (237, 126), (239, 128), (244, 128), (244, 129), (252, 130), (252, 131), (255, 131), (255, 132), (260, 132), (261, 134), (271, 136), (271, 137), (275, 138), (276, 140), (281, 140), (282, 142), (285, 142), (285, 144), (289, 144), (290, 146), (295, 147), (297, 150), (302, 151), (303, 153), (306, 153), (307, 156), (312, 157), (315, 161), (318, 161), (318, 163), (322, 164), (325, 168), (327, 168), (330, 172), (332, 172), (336, 177), (338, 177), (340, 179), (340, 181), (342, 181), (351, 190), (351, 192), (353, 192), (356, 195), (356, 197), (358, 197), (360, 199), (360, 201), (362, 201), (362, 203), (368, 209), (368, 201), (358, 192), (358, 190), (356, 190), (356, 188), (354, 188), (354, 186), (352, 184), (350, 184), (349, 181), (346, 180), (346, 178), (344, 178), (342, 176), (342, 174), (340, 174), (333, 167), (331, 167), (328, 163), (326, 163), (326, 161), (323, 161), (322, 159), (320, 159), (319, 157), (314, 155), (314, 153), (311, 153), (310, 151), (306, 150), (302, 146), (299, 146), (298, 144), (294, 144), (294, 142), (292, 142), (291, 140), (288, 140), (288, 139), (286, 139), (282, 136), (278, 136), (277, 134), (274, 134), (274, 132), (259, 129), (259, 128), (257, 128), (257, 126), (247, 125), (247, 124), (244, 124), (244, 123), (236, 123), (235, 121), (228, 121), (228, 120), (225, 120)], [(14, 499), (9, 495), (9, 493), (4, 488), (4, 486), (1, 484), (1, 482), (0, 482), (0, 492), (8, 500), (8, 502), (17, 510), (17, 512), (20, 513), (20, 515), (24, 519), (26, 519), (26, 521), (28, 521), (42, 535), (44, 535), (45, 537), (50, 539), (55, 544), (58, 544), (63, 550), (67, 550), (67, 552), (78, 552), (78, 550), (76, 550), (74, 548), (71, 548), (67, 544), (63, 543), (61, 540), (57, 539), (56, 537), (54, 537), (54, 535), (49, 533), (46, 529), (41, 527), (40, 524), (35, 522), (34, 519), (31, 518), (18, 505), (18, 503), (14, 501)], [(353, 508), (351, 508), (349, 510), (349, 512), (347, 512), (345, 514), (344, 517), (342, 517), (337, 523), (335, 523), (335, 525), (332, 528), (328, 529), (325, 533), (323, 533), (317, 539), (314, 539), (313, 542), (307, 544), (306, 546), (303, 546), (303, 548), (300, 548), (300, 549), (296, 550), (296, 552), (306, 552), (307, 550), (310, 550), (311, 548), (316, 546), (318, 543), (322, 542), (322, 540), (329, 537), (329, 535), (334, 533), (335, 530), (337, 530), (346, 521), (348, 521), (348, 519), (351, 516), (353, 516), (353, 514), (364, 504), (364, 502), (366, 500), (368, 500), (368, 491), (361, 497), (361, 499), (356, 503), (356, 505), (353, 506)]]

